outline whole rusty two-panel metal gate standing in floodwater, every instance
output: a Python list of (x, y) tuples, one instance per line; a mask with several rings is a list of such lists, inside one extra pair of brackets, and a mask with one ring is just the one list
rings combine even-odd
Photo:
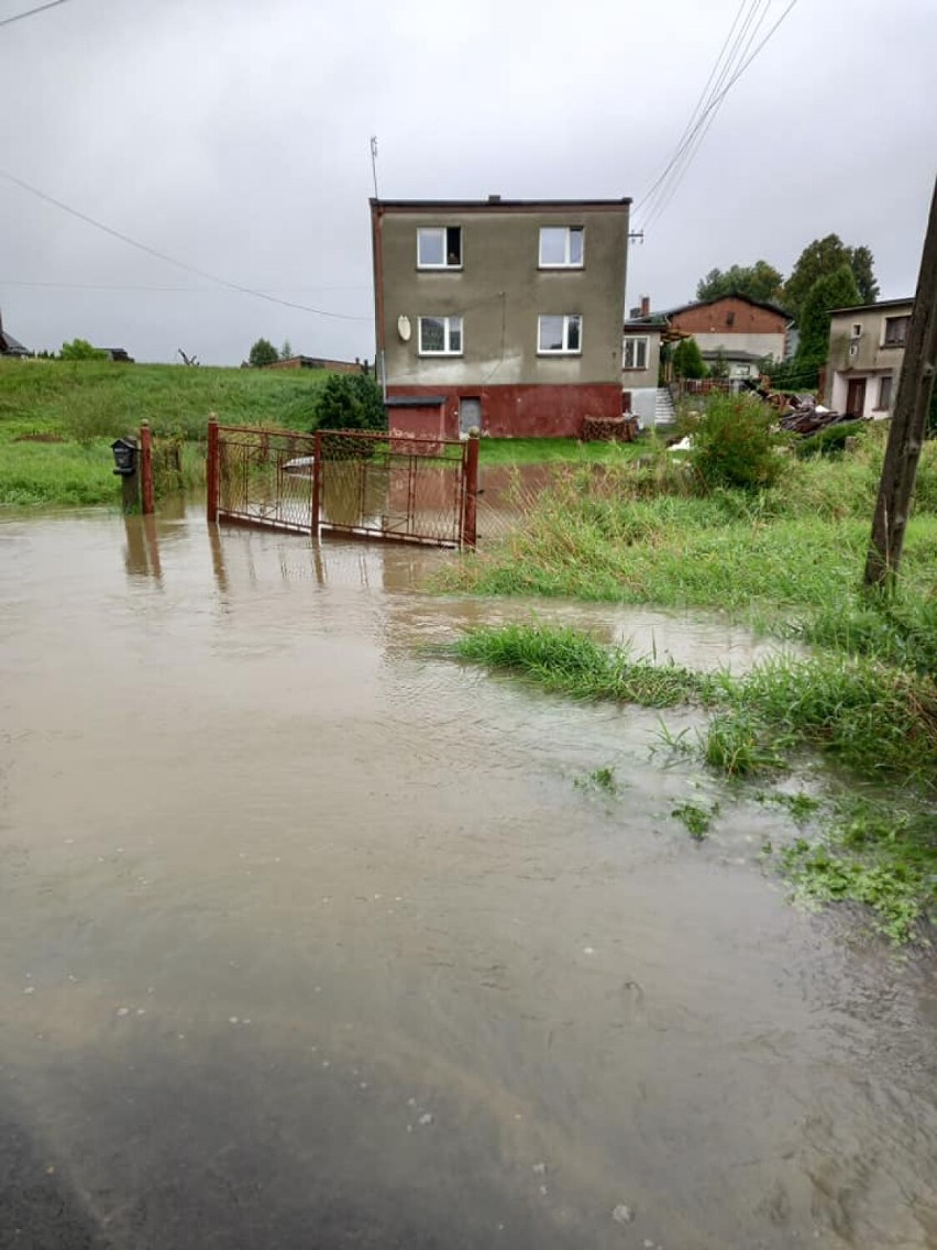
[(210, 521), (475, 546), (478, 440), (209, 422)]

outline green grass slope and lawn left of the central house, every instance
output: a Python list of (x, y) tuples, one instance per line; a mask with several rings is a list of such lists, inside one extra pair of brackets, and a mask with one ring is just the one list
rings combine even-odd
[[(0, 505), (81, 506), (119, 498), (110, 442), (149, 420), (181, 439), (184, 480), (202, 476), (197, 444), (220, 421), (306, 430), (325, 371), (187, 369), (112, 361), (0, 360)], [(61, 441), (32, 441), (36, 438)]]

